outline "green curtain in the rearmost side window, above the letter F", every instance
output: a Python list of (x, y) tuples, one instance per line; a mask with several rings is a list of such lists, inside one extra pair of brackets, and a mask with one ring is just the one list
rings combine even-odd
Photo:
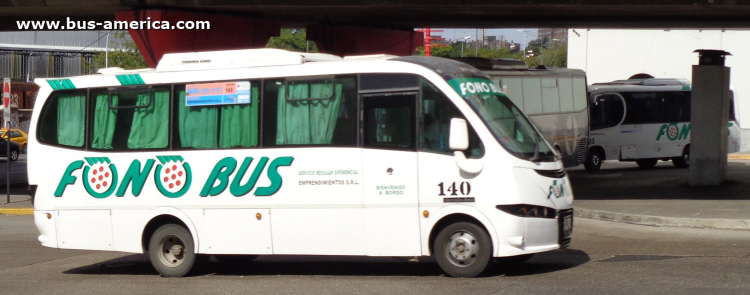
[(57, 105), (57, 143), (83, 146), (86, 113), (85, 94), (61, 94)]

